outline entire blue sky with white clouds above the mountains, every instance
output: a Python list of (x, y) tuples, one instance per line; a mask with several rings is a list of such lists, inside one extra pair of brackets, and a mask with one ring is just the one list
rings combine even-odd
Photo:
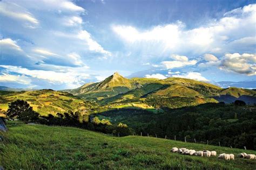
[(0, 1), (0, 86), (72, 89), (114, 72), (256, 81), (256, 1)]

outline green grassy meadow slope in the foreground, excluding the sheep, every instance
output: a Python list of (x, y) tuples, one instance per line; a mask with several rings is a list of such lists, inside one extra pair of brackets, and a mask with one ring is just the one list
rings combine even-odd
[[(0, 143), (5, 169), (226, 168), (255, 169), (256, 160), (219, 160), (171, 153), (172, 147), (238, 154), (245, 150), (152, 137), (111, 137), (77, 128), (8, 123)], [(256, 151), (246, 151), (256, 154)]]

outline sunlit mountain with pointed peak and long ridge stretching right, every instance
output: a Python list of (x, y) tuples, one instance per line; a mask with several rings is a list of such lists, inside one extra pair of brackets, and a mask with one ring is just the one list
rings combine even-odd
[(164, 80), (134, 77), (127, 79), (118, 73), (97, 83), (87, 83), (73, 90), (65, 90), (86, 100), (101, 105), (144, 103), (156, 108), (179, 108), (208, 102), (232, 103), (245, 100), (255, 103), (256, 92), (249, 89), (226, 88), (211, 83), (200, 82), (179, 77)]

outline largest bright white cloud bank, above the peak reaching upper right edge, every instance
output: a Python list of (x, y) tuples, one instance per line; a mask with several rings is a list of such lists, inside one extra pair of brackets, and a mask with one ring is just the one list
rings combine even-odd
[(255, 15), (256, 4), (250, 4), (227, 12), (222, 18), (213, 19), (194, 29), (187, 29), (185, 23), (178, 21), (149, 29), (114, 25), (112, 30), (124, 41), (127, 48), (134, 51), (140, 49), (140, 53), (145, 56), (245, 51), (245, 44), (234, 44), (250, 40), (252, 43), (246, 46), (249, 45), (251, 50), (255, 49), (255, 27), (252, 26), (256, 24)]

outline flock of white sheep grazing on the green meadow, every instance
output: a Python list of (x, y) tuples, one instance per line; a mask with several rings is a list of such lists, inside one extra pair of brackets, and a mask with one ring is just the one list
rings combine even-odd
[[(171, 149), (171, 152), (177, 152), (180, 154), (186, 154), (186, 155), (196, 155), (199, 157), (216, 157), (217, 152), (216, 151), (195, 151), (195, 150), (188, 150), (187, 148), (177, 148), (173, 147)], [(226, 160), (234, 160), (234, 154), (226, 154), (221, 153), (219, 154), (219, 159), (226, 159)], [(245, 159), (256, 159), (255, 154), (246, 154), (246, 153), (240, 153), (238, 155), (238, 158), (245, 158)]]

